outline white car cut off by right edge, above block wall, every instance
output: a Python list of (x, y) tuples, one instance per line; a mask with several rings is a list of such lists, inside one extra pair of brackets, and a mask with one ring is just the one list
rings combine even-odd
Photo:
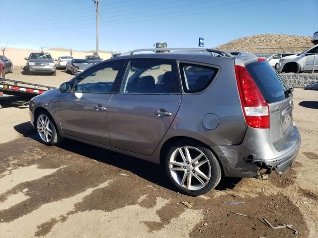
[[(316, 54), (316, 57), (315, 57)], [(315, 59), (315, 66), (314, 64)], [(308, 48), (301, 54), (287, 56), (282, 58), (281, 66), (278, 69), (280, 72), (299, 73), (303, 71), (318, 70), (318, 45)]]

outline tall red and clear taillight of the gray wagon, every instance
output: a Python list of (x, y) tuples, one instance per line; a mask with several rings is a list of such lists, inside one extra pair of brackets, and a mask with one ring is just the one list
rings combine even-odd
[(247, 125), (269, 128), (269, 107), (244, 66), (235, 65), (239, 97)]

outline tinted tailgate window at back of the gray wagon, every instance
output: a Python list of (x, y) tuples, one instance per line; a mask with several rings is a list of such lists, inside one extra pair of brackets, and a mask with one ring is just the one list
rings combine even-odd
[(287, 85), (268, 62), (253, 62), (245, 67), (267, 103), (275, 103), (289, 97)]

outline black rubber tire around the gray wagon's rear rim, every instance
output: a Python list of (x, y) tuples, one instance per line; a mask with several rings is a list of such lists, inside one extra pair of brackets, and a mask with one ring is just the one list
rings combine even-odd
[[(206, 163), (206, 164), (208, 164), (206, 166), (211, 168), (210, 179), (206, 180), (207, 183), (202, 188), (197, 189), (197, 190), (187, 189), (184, 186), (181, 186), (179, 183), (177, 183), (175, 181), (175, 179), (173, 179), (172, 174), (171, 174), (172, 172), (170, 171), (170, 157), (173, 156), (172, 154), (175, 154), (174, 152), (178, 148), (185, 147), (185, 146), (195, 147), (196, 149), (198, 149), (201, 152), (203, 152), (203, 154), (205, 155), (206, 159), (208, 159), (208, 161), (209, 161), (209, 163)], [(220, 182), (221, 177), (222, 177), (222, 170), (221, 170), (220, 163), (219, 163), (218, 159), (215, 157), (215, 155), (212, 153), (212, 151), (208, 147), (204, 146), (203, 144), (197, 143), (197, 142), (193, 142), (193, 141), (183, 140), (183, 141), (179, 141), (179, 142), (173, 144), (167, 150), (167, 153), (166, 153), (165, 158), (163, 160), (163, 168), (164, 168), (164, 171), (165, 171), (165, 174), (166, 174), (168, 180), (176, 188), (176, 190), (178, 190), (179, 192), (181, 192), (183, 194), (190, 195), (190, 196), (199, 196), (199, 195), (202, 195), (204, 193), (207, 193), (207, 192), (211, 191), (213, 188), (215, 188), (218, 185), (218, 183)], [(192, 167), (192, 168), (194, 168), (194, 167)], [(185, 176), (185, 173), (189, 172), (187, 170), (188, 170), (188, 168), (184, 169), (184, 172), (180, 171), (180, 173), (181, 174), (184, 173), (183, 176)], [(192, 169), (190, 169), (190, 170), (192, 170)], [(194, 174), (195, 170), (192, 170), (192, 171), (193, 171), (192, 174)], [(191, 173), (191, 171), (189, 173)], [(193, 178), (193, 176), (192, 176), (192, 178)], [(193, 180), (191, 180), (191, 182), (192, 181)], [(194, 181), (198, 182), (199, 180), (195, 179)], [(200, 183), (199, 183), (199, 185), (200, 185)]]

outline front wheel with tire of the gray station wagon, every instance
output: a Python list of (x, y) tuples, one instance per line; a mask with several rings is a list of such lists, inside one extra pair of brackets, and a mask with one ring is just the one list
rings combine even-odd
[(61, 141), (62, 137), (59, 135), (56, 125), (49, 113), (39, 113), (36, 121), (38, 135), (44, 144), (51, 146)]

